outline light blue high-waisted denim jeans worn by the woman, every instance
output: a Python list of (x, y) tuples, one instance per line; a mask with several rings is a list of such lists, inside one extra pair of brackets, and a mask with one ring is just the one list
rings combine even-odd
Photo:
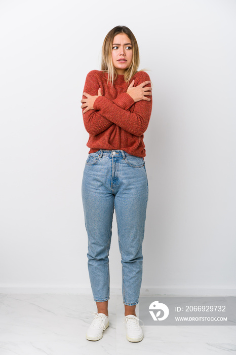
[(115, 210), (122, 263), (123, 302), (138, 303), (142, 282), (142, 242), (148, 200), (143, 158), (121, 150), (91, 153), (82, 181), (88, 233), (88, 270), (94, 301), (110, 299), (109, 250)]

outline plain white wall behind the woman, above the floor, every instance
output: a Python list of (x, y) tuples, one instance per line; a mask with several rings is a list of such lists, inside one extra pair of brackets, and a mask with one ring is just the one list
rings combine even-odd
[(80, 100), (126, 25), (153, 84), (142, 290), (235, 294), (235, 18), (234, 0), (1, 0), (0, 292), (91, 292)]

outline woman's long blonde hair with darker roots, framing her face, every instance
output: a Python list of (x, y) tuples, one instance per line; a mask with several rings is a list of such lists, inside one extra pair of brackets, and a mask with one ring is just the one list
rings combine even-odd
[(139, 48), (136, 38), (134, 37), (133, 32), (126, 26), (116, 26), (112, 28), (106, 35), (105, 40), (102, 45), (102, 63), (101, 70), (105, 73), (108, 73), (108, 81), (113, 85), (113, 80), (117, 78), (117, 72), (112, 62), (111, 51), (113, 39), (116, 34), (125, 33), (129, 37), (132, 44), (132, 62), (129, 68), (125, 70), (124, 79), (126, 82), (129, 82), (131, 78), (137, 73), (139, 67)]

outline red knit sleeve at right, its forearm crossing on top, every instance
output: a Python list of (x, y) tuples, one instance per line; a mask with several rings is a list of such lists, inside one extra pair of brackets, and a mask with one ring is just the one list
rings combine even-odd
[[(135, 77), (135, 86), (146, 80), (150, 80), (149, 75), (146, 72), (138, 72)], [(150, 84), (147, 84), (146, 86), (150, 86)], [(115, 123), (117, 126), (123, 128), (127, 132), (140, 136), (146, 131), (150, 120), (152, 96), (150, 96), (150, 99), (150, 101), (140, 100), (135, 102), (134, 109), (131, 112), (121, 108), (121, 106), (125, 107), (125, 104), (123, 105), (120, 103), (119, 107), (116, 103), (107, 99), (105, 96), (99, 96), (94, 102), (94, 109), (99, 110), (99, 113), (103, 117)], [(128, 100), (126, 101), (126, 104), (128, 105), (129, 103), (127, 102)], [(131, 103), (131, 101), (129, 102)]]

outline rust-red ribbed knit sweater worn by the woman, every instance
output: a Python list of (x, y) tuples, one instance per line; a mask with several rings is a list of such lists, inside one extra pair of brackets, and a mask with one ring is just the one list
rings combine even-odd
[(137, 72), (126, 83), (124, 75), (117, 75), (113, 87), (107, 84), (107, 78), (107, 73), (92, 70), (85, 82), (84, 92), (94, 96), (101, 88), (102, 94), (96, 98), (94, 110), (83, 113), (85, 128), (89, 133), (89, 153), (99, 149), (119, 149), (137, 157), (145, 157), (143, 133), (151, 116), (152, 96), (147, 96), (151, 98), (150, 101), (134, 102), (126, 91), (133, 79), (134, 86), (137, 86), (150, 78), (146, 72)]

